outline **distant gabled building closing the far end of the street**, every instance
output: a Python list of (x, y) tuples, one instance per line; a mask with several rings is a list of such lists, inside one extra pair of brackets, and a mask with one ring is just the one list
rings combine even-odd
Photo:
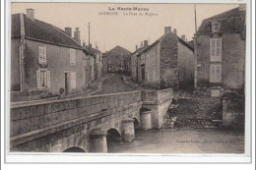
[[(104, 66), (107, 72), (111, 73), (126, 73), (130, 72), (130, 57), (131, 52), (127, 49), (116, 46), (104, 55)], [(105, 69), (104, 69), (105, 70)]]

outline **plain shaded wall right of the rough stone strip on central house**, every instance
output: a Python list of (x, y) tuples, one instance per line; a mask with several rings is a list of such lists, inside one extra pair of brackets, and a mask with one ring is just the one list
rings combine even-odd
[(194, 87), (194, 52), (178, 42), (178, 82), (179, 89)]

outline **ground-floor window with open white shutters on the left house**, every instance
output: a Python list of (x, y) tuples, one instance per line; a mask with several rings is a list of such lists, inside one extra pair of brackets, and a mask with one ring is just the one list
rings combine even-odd
[(50, 87), (50, 71), (39, 69), (36, 71), (37, 88)]

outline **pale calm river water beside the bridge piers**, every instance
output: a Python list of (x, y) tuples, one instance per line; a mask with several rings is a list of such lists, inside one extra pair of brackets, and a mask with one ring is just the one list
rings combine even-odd
[(244, 133), (226, 129), (136, 131), (134, 142), (110, 142), (111, 153), (243, 153)]

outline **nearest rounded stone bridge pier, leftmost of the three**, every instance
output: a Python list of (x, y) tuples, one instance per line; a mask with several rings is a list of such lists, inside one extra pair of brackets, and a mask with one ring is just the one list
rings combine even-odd
[(91, 152), (107, 152), (106, 133), (102, 131), (93, 131), (90, 138), (90, 151)]

